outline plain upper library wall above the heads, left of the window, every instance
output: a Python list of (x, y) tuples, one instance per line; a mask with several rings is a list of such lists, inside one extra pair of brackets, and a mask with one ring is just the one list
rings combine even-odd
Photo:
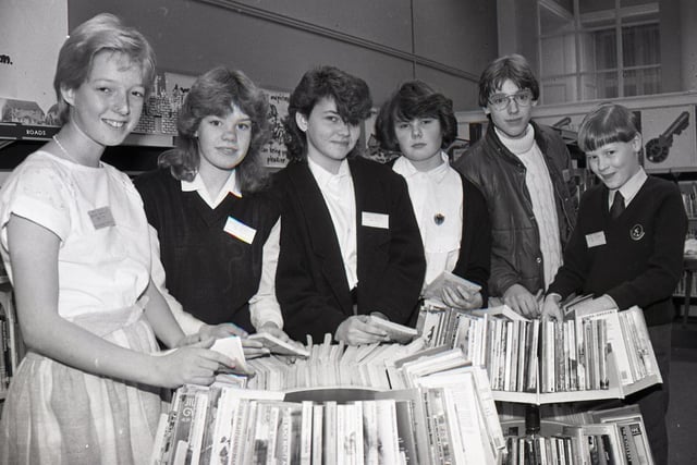
[(430, 0), (68, 3), (71, 28), (111, 11), (143, 30), (164, 71), (197, 75), (224, 64), (265, 88), (290, 90), (306, 70), (333, 64), (365, 78), (376, 106), (400, 82), (419, 77), (455, 108), (475, 108), (478, 75), (498, 51), (496, 5), (488, 0), (440, 0), (437, 9)]

